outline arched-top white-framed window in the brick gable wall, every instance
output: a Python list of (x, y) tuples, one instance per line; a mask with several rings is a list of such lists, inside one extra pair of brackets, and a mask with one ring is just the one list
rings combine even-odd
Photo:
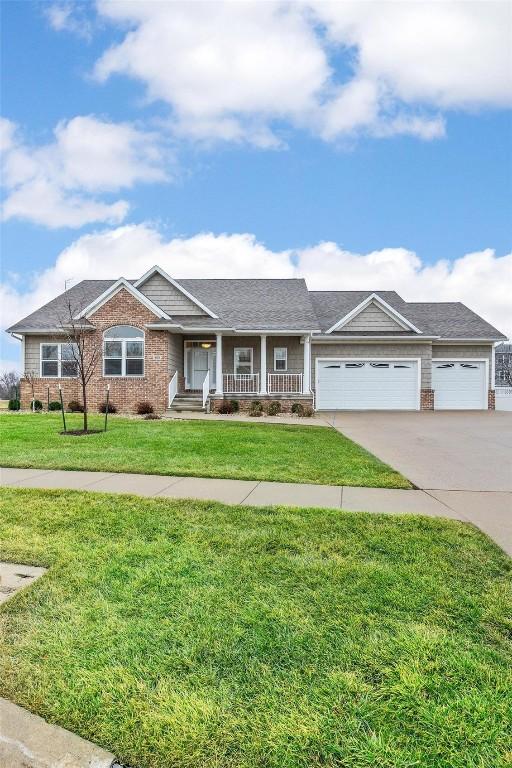
[(144, 332), (117, 325), (103, 334), (103, 375), (144, 376)]

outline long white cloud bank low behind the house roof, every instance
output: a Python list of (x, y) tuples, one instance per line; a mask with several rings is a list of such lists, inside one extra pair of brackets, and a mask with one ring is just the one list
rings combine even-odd
[(250, 234), (201, 233), (165, 240), (149, 225), (130, 225), (80, 237), (26, 290), (15, 276), (0, 288), (2, 327), (64, 290), (73, 278), (140, 277), (159, 264), (174, 277), (304, 277), (317, 290), (396, 290), (406, 301), (462, 301), (512, 337), (512, 253), (492, 249), (452, 262), (424, 264), (413, 251), (383, 248), (367, 254), (319, 243), (272, 251)]

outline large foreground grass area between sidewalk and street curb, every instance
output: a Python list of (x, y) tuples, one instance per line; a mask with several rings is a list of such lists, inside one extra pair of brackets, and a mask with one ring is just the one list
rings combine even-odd
[(138, 768), (505, 768), (510, 560), (412, 516), (3, 489), (0, 695)]

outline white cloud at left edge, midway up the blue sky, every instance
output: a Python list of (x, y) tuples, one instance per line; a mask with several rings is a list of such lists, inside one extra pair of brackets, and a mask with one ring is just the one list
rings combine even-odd
[(28, 145), (6, 119), (0, 120), (0, 134), (5, 145), (4, 219), (47, 227), (117, 224), (125, 218), (128, 203), (107, 202), (97, 195), (166, 178), (158, 137), (128, 123), (74, 117), (60, 122), (54, 141), (42, 146)]

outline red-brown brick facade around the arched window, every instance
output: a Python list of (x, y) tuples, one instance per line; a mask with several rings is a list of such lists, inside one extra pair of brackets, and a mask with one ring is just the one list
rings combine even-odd
[[(132, 325), (144, 331), (144, 376), (121, 378), (103, 376), (103, 355), (100, 354), (95, 373), (87, 388), (88, 405), (97, 411), (105, 401), (107, 384), (110, 384), (110, 402), (121, 413), (132, 413), (141, 400), (149, 401), (156, 412), (167, 407), (169, 384), (169, 341), (166, 331), (145, 328), (155, 321), (155, 315), (124, 288), (103, 304), (89, 321), (96, 327), (91, 331), (91, 344), (102, 345), (103, 332), (114, 325)], [(82, 401), (81, 387), (76, 379), (38, 378), (34, 383), (35, 397), (46, 403), (48, 387), (50, 400), (58, 400), (59, 384), (62, 387), (64, 404), (70, 400)], [(32, 390), (29, 382), (21, 382), (22, 408), (30, 408)]]

